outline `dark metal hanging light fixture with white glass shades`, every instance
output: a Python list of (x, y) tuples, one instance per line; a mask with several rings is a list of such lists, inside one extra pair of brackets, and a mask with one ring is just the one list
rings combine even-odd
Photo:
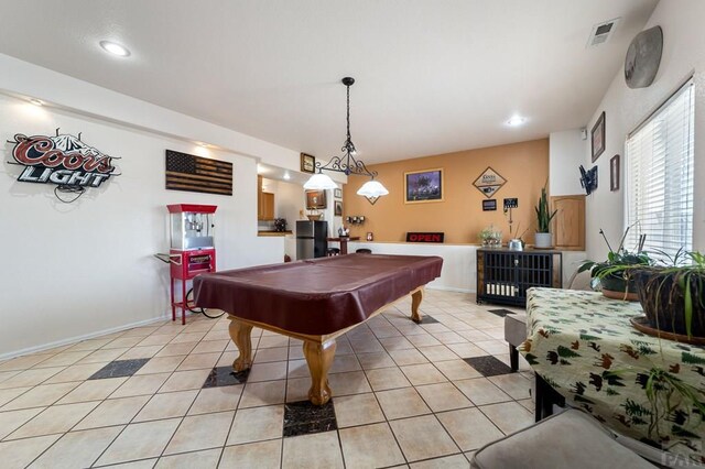
[(316, 162), (316, 170), (318, 170), (318, 172), (311, 176), (306, 184), (304, 184), (304, 189), (322, 190), (338, 188), (338, 185), (330, 178), (330, 176), (323, 174), (323, 170), (344, 173), (346, 176), (369, 176), (370, 181), (365, 183), (362, 187), (358, 189), (357, 195), (364, 196), (373, 205), (379, 197), (389, 194), (389, 190), (387, 190), (379, 181), (375, 181), (375, 176), (377, 176), (376, 171), (369, 171), (362, 161), (355, 159), (357, 151), (355, 150), (355, 144), (350, 139), (350, 87), (355, 83), (355, 78), (345, 77), (340, 81), (347, 87), (348, 95), (347, 139), (340, 149), (343, 151), (343, 155), (333, 156), (325, 165)]

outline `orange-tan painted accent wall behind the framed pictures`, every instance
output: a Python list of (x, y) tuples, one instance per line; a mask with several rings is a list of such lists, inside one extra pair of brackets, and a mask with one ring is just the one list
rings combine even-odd
[[(491, 197), (497, 200), (496, 211), (482, 211), (482, 200), (487, 198), (473, 185), (487, 166), (507, 179)], [(438, 167), (444, 172), (444, 200), (404, 204), (404, 173)], [(390, 194), (370, 205), (355, 194), (366, 179), (348, 177), (343, 188), (343, 215), (365, 216), (364, 225), (350, 226), (351, 236), (365, 240), (371, 231), (375, 241), (403, 242), (406, 231), (443, 231), (446, 243), (474, 244), (479, 243), (480, 230), (492, 223), (502, 231), (507, 242), (509, 217), (503, 214), (502, 201), (506, 197), (517, 197), (519, 208), (512, 210), (513, 230), (518, 223), (520, 233), (529, 228), (523, 239), (533, 243), (534, 206), (549, 178), (549, 139), (395, 161), (369, 168), (379, 172), (377, 179)]]

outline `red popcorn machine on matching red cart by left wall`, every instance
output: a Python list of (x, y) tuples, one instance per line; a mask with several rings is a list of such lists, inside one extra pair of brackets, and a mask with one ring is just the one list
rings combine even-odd
[[(196, 275), (216, 271), (215, 205), (167, 205), (171, 226), (171, 302), (172, 320), (181, 308), (181, 324), (186, 324), (186, 283)], [(174, 280), (181, 281), (181, 301), (174, 299)]]

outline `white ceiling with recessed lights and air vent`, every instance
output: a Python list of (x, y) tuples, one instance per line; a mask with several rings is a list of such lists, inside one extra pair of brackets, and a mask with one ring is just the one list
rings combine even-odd
[[(345, 140), (352, 76), (369, 164), (587, 126), (657, 2), (2, 0), (0, 53), (323, 160)], [(505, 124), (514, 113), (525, 126)]]

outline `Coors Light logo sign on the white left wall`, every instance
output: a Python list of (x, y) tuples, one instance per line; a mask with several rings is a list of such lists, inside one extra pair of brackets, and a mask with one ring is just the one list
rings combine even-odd
[[(56, 197), (65, 203), (76, 200), (86, 190), (86, 187), (99, 187), (113, 174), (116, 167), (112, 160), (98, 149), (87, 145), (78, 137), (59, 134), (56, 137), (33, 135), (26, 137), (17, 133), (12, 156), (14, 161), (24, 166), (24, 171), (18, 176), (23, 183), (56, 184), (54, 190)], [(75, 194), (68, 199), (59, 196), (59, 193)]]

